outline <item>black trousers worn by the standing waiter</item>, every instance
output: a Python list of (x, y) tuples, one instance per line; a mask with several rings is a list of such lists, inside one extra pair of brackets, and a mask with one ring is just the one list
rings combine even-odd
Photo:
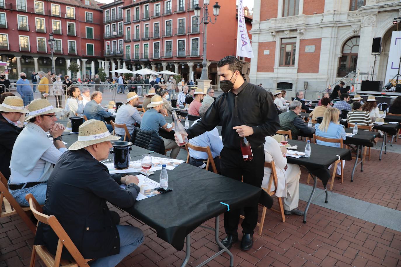
[[(221, 175), (237, 181), (241, 181), (242, 178), (244, 183), (261, 187), (265, 166), (265, 151), (263, 146), (259, 148), (253, 147), (252, 153), (253, 160), (243, 161), (240, 149), (227, 149), (224, 147), (220, 153)], [(244, 207), (244, 212), (245, 219), (241, 224), (243, 228), (242, 232), (253, 234), (258, 218), (257, 205)], [(224, 228), (227, 234), (238, 236), (237, 230), (240, 213), (241, 209), (230, 209), (230, 211), (224, 213)]]

